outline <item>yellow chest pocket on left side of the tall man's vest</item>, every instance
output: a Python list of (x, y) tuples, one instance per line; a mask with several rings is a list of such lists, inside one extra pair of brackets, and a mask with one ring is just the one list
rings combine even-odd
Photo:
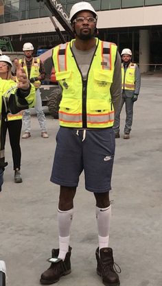
[(73, 73), (72, 71), (56, 72), (56, 80), (58, 80), (62, 91), (65, 94), (74, 94)]

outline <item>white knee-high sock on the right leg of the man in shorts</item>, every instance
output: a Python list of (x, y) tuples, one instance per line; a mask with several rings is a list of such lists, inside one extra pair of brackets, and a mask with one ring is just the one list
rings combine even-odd
[(96, 206), (99, 249), (108, 248), (109, 231), (111, 225), (111, 205), (107, 208)]

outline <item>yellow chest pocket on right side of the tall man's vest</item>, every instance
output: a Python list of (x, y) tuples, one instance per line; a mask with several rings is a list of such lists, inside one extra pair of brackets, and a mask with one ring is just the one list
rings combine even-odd
[(111, 70), (94, 70), (94, 91), (101, 94), (107, 94), (113, 82), (113, 71)]

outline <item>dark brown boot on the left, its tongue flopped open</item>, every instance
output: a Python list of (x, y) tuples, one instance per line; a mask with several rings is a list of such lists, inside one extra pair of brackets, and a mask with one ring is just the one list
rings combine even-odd
[(59, 249), (51, 250), (51, 259), (47, 261), (51, 262), (51, 266), (43, 272), (40, 276), (40, 284), (50, 285), (60, 280), (61, 276), (65, 276), (71, 273), (71, 247), (69, 246), (69, 252), (67, 252), (65, 260), (58, 259)]

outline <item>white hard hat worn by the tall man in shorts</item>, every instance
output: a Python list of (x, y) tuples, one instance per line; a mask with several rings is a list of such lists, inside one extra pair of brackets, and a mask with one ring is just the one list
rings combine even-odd
[(70, 21), (73, 18), (73, 16), (75, 16), (78, 12), (84, 11), (84, 10), (88, 10), (93, 12), (93, 14), (95, 14), (95, 17), (97, 19), (97, 14), (94, 10), (94, 8), (92, 7), (92, 5), (88, 2), (79, 2), (76, 3), (72, 6), (71, 11), (70, 11)]

